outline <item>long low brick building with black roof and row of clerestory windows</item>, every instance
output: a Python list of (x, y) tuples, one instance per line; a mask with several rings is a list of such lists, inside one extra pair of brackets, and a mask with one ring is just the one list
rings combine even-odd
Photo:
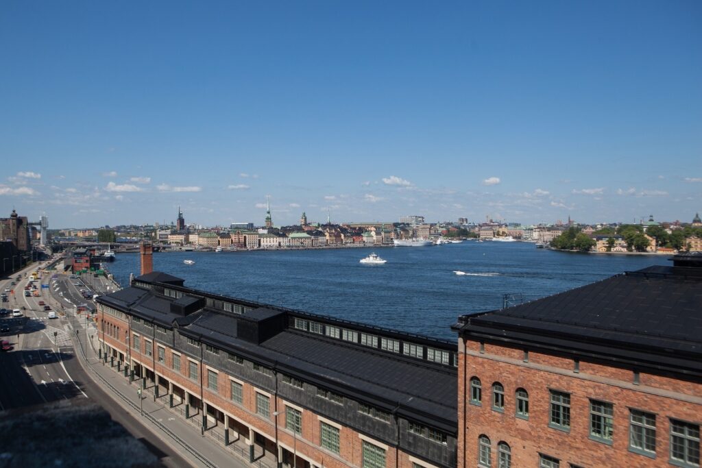
[(206, 293), (160, 272), (97, 302), (105, 360), (197, 417), (203, 434), (245, 439), (251, 462), (265, 450), (278, 466), (456, 467), (453, 342)]

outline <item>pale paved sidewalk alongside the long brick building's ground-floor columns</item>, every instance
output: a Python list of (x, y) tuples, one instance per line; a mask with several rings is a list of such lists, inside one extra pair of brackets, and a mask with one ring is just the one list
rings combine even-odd
[[(112, 367), (109, 360), (105, 363), (99, 359), (98, 350), (95, 348), (98, 340), (94, 323), (88, 323), (88, 335), (92, 336), (92, 340), (88, 339), (87, 355), (84, 354), (86, 349), (84, 319), (81, 320), (82, 317), (76, 319), (73, 314), (70, 315), (69, 323), (74, 330), (79, 330), (78, 335), (71, 333), (72, 340), (86, 373), (108, 394), (114, 395), (114, 399), (121, 406), (136, 418), (141, 418), (141, 422), (154, 434), (190, 460), (193, 466), (276, 468), (275, 454), (261, 453), (259, 447), (256, 447), (256, 460), (249, 463), (249, 446), (246, 445), (243, 437), (237, 441), (230, 441), (230, 444), (225, 446), (223, 427), (211, 427), (202, 434), (202, 417), (198, 410), (194, 409), (186, 420), (182, 406), (168, 408), (170, 399), (167, 394), (154, 399), (152, 382), (147, 382), (148, 388), (142, 390), (142, 400), (139, 401), (137, 391), (143, 385), (142, 380), (135, 380), (130, 384), (129, 377), (124, 376), (124, 369), (118, 372), (117, 363)], [(142, 408), (143, 415), (141, 415)], [(213, 424), (212, 420), (210, 424)]]

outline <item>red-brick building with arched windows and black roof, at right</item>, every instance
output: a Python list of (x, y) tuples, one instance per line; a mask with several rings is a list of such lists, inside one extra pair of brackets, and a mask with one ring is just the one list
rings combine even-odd
[(702, 254), (461, 316), (458, 467), (698, 467)]

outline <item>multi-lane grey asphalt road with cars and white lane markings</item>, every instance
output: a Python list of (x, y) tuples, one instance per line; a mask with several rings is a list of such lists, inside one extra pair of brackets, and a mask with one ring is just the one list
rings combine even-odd
[[(54, 401), (62, 401), (62, 404), (69, 406), (98, 404), (132, 436), (145, 443), (164, 466), (191, 465), (86, 375), (71, 339), (71, 335), (76, 333), (74, 330), (78, 333), (88, 330), (88, 336), (96, 334), (90, 331), (95, 330), (94, 327), (82, 327), (86, 314), (83, 314), (79, 324), (75, 323), (72, 306), (88, 302), (79, 292), (85, 288), (82, 282), (65, 274), (55, 274), (55, 279), (51, 279), (51, 274), (45, 274), (41, 284), (50, 286), (51, 293), (50, 288), (42, 288), (40, 281), (37, 281), (40, 296), (25, 297), (24, 287), (30, 278), (24, 275), (34, 269), (36, 265), (22, 270), (22, 278), (15, 286), (10, 283), (15, 281), (18, 273), (11, 279), (0, 281), (0, 290), (14, 288), (14, 293), (8, 294), (9, 302), (2, 302), (2, 307), (24, 307), (24, 316), (0, 319), (0, 323), (11, 326), (11, 331), (4, 333), (1, 339), (8, 340), (15, 348), (0, 353), (0, 379), (11, 382), (11, 385), (0, 385), (0, 410), (27, 408)], [(51, 309), (58, 309), (59, 318), (48, 319), (48, 312), (44, 311), (43, 305), (39, 305), (39, 301), (44, 301)]]

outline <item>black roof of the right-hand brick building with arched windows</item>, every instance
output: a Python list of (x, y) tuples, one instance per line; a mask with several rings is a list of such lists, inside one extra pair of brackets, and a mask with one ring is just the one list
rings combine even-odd
[(460, 335), (555, 345), (564, 352), (702, 376), (702, 276), (694, 273), (680, 267), (627, 272), (527, 304), (463, 316), (453, 328)]

